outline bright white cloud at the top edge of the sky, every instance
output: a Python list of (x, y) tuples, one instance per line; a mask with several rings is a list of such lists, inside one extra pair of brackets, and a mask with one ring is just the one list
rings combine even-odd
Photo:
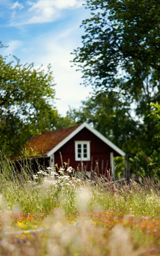
[(61, 10), (78, 8), (83, 3), (83, 0), (38, 0), (36, 3), (28, 2), (31, 6), (28, 11), (34, 12), (34, 16), (28, 20), (28, 23), (53, 21), (59, 17)]

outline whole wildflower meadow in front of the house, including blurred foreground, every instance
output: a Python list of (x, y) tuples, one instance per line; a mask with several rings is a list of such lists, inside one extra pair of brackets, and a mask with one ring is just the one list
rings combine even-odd
[(8, 159), (0, 163), (0, 255), (160, 255), (153, 180), (75, 179), (58, 166), (34, 175), (27, 164), (15, 173)]

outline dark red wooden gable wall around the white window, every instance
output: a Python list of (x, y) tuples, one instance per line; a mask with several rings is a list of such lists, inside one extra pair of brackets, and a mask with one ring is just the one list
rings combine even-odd
[[(99, 165), (99, 173), (105, 174), (106, 163), (108, 161), (108, 170), (110, 168), (110, 152), (114, 153), (114, 156), (119, 156), (117, 152), (115, 152), (112, 148), (110, 148), (106, 143), (97, 138), (92, 132), (88, 129), (84, 128), (79, 133), (77, 133), (71, 140), (69, 140), (64, 146), (62, 146), (57, 152), (54, 154), (55, 164), (61, 166), (60, 153), (62, 154), (63, 162), (68, 163), (69, 158), (69, 166), (72, 166), (75, 170), (77, 170), (77, 166), (81, 166), (80, 161), (75, 161), (75, 140), (89, 140), (90, 142), (90, 151), (91, 157), (93, 157), (93, 165), (92, 170), (95, 169), (95, 162), (98, 160)], [(101, 169), (102, 160), (104, 161), (103, 170)], [(91, 170), (91, 161), (83, 162), (84, 166), (86, 166), (86, 170)], [(80, 167), (79, 167), (80, 168)], [(97, 170), (96, 170), (97, 172)]]

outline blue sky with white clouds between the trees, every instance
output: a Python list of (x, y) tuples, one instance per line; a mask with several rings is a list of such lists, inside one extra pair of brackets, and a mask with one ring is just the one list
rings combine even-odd
[(65, 116), (70, 107), (79, 107), (91, 87), (84, 87), (81, 72), (71, 68), (70, 54), (81, 46), (82, 20), (89, 18), (84, 0), (0, 0), (0, 41), (8, 48), (0, 54), (15, 55), (20, 63), (36, 68), (50, 63), (55, 78), (58, 112)]

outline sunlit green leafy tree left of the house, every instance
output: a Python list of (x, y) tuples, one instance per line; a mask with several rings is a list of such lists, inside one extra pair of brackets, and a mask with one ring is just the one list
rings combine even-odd
[[(0, 44), (0, 48), (3, 47)], [(54, 107), (54, 79), (33, 64), (21, 65), (0, 55), (0, 149), (6, 156), (18, 155), (33, 135), (70, 124)]]

